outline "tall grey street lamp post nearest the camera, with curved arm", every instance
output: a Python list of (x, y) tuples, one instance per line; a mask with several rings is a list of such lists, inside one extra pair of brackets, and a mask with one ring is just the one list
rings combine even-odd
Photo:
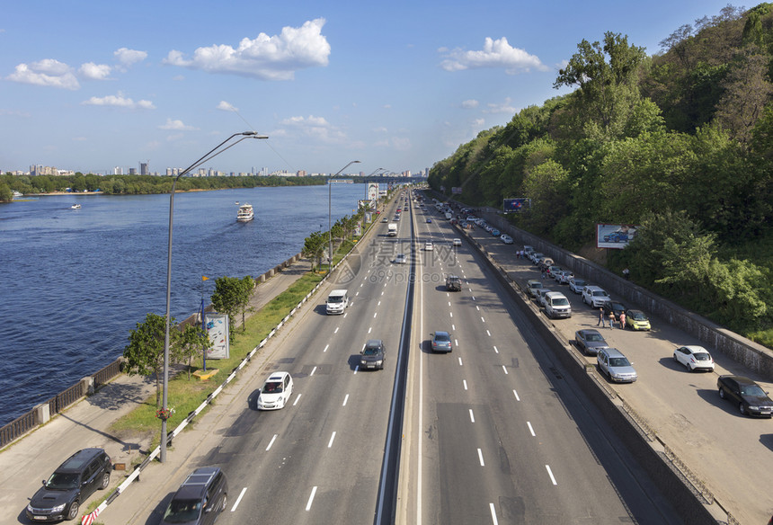
[[(241, 138), (236, 140), (233, 144), (230, 144), (229, 146), (224, 147), (229, 140), (235, 137), (241, 137)], [(182, 177), (182, 175), (191, 172), (191, 170), (209, 161), (210, 158), (220, 155), (230, 147), (234, 147), (236, 144), (238, 144), (245, 138), (268, 138), (268, 137), (265, 135), (258, 135), (257, 131), (244, 131), (242, 133), (234, 133), (226, 140), (218, 144), (218, 146), (210, 149), (206, 155), (202, 156), (199, 160), (197, 160), (192, 165), (185, 168), (179, 175), (177, 175), (177, 177), (175, 177), (174, 181), (172, 182), (172, 191), (169, 193), (169, 238), (166, 245), (166, 329), (164, 331), (164, 382), (163, 382), (164, 392), (162, 394), (161, 454), (159, 458), (162, 463), (166, 461), (166, 435), (167, 435), (166, 419), (169, 416), (169, 408), (168, 408), (169, 399), (167, 396), (167, 390), (169, 387), (169, 320), (170, 320), (169, 309), (170, 309), (170, 302), (172, 300), (172, 216), (174, 212), (174, 190), (177, 186), (177, 181), (180, 180), (180, 177)]]

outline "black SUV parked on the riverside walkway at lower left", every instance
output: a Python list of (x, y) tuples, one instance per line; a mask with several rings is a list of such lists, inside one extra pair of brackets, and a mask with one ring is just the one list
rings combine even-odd
[(102, 449), (78, 450), (62, 463), (27, 505), (31, 521), (74, 520), (81, 503), (110, 485), (112, 463)]

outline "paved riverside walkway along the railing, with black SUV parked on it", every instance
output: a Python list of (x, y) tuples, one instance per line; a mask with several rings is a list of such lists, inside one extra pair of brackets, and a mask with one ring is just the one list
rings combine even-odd
[[(311, 263), (301, 260), (276, 274), (270, 280), (258, 285), (250, 300), (255, 311), (264, 307), (281, 292), (288, 289), (301, 276), (310, 271)], [(254, 314), (253, 314), (254, 315)], [(241, 316), (239, 316), (241, 321)], [(47, 478), (54, 468), (70, 454), (79, 449), (97, 447), (105, 449), (113, 463), (125, 463), (125, 472), (114, 471), (111, 488), (123, 481), (128, 475), (131, 462), (149, 451), (150, 438), (140, 439), (132, 435), (115, 435), (111, 424), (148, 397), (155, 396), (155, 379), (121, 374), (99, 392), (89, 396), (58, 414), (49, 423), (31, 431), (20, 440), (13, 442), (0, 453), (0, 508), (9, 514), (0, 519), (0, 523), (28, 523), (24, 509), (32, 494), (40, 488), (40, 480)], [(172, 429), (170, 429), (171, 431)], [(175, 441), (183, 440), (182, 432)], [(176, 444), (176, 443), (175, 443)], [(88, 503), (102, 498), (105, 493), (97, 492), (88, 502), (82, 504), (82, 514)], [(120, 497), (113, 503), (119, 503)], [(128, 499), (126, 496), (123, 499)], [(108, 507), (104, 514), (111, 507)], [(97, 522), (125, 523), (115, 521), (118, 513), (112, 513), (112, 521), (104, 521), (102, 516)], [(79, 520), (73, 523), (80, 523)]]

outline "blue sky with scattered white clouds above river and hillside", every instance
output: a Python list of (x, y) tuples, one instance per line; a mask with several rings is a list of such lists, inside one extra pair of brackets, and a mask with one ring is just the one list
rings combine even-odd
[[(431, 167), (565, 91), (582, 40), (657, 52), (726, 0), (93, 2), (28, 0), (0, 19), (0, 170), (205, 167), (370, 174)], [(742, 5), (742, 4), (735, 4)], [(751, 7), (754, 4), (746, 5)]]

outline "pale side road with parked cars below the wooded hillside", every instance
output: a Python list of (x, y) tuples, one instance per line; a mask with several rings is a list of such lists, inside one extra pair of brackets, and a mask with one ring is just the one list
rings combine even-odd
[[(540, 279), (536, 266), (515, 257), (520, 246), (504, 245), (481, 228), (469, 235), (484, 245), (511, 277), (522, 283)], [(596, 327), (598, 312), (583, 304), (581, 296), (549, 278), (545, 286), (563, 291), (572, 303), (570, 319), (546, 318), (565, 341), (573, 341), (576, 330)], [(610, 346), (633, 361), (639, 376), (634, 384), (600, 381), (634, 408), (737, 521), (766, 523), (773, 513), (768, 483), (773, 472), (773, 424), (769, 419), (739, 414), (736, 405), (717, 395), (716, 379), (723, 374), (750, 376), (769, 392), (773, 392), (773, 385), (711, 348), (715, 371), (690, 373), (674, 362), (673, 351), (682, 345), (706, 344), (660, 318), (651, 318), (651, 322), (653, 330), (644, 333), (599, 329)], [(592, 356), (581, 359), (591, 365), (596, 362)]]

